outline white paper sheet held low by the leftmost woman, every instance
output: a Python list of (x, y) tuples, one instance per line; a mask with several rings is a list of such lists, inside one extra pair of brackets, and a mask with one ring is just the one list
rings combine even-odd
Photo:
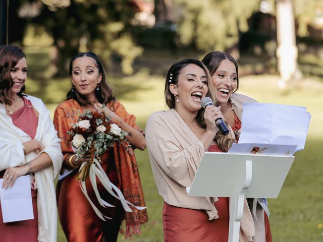
[(0, 179), (0, 202), (4, 223), (33, 219), (30, 176), (24, 175), (16, 179), (12, 188), (3, 189)]

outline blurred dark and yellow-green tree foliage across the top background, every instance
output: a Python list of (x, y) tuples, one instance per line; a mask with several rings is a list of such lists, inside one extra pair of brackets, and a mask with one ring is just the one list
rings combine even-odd
[[(148, 14), (143, 9), (152, 3), (157, 7), (149, 18), (155, 22), (139, 23), (136, 15)], [(308, 34), (310, 24), (323, 26), (321, 0), (293, 0), (293, 4), (299, 36)], [(128, 75), (136, 70), (134, 61), (147, 48), (208, 52), (230, 51), (239, 44), (276, 62), (275, 0), (20, 0), (10, 1), (9, 7), (11, 43), (24, 40), (28, 46), (52, 46), (44, 78), (53, 73), (65, 77), (71, 56), (87, 50), (98, 53), (110, 70), (121, 66)], [(265, 32), (261, 22), (272, 25), (271, 32)], [(252, 29), (252, 25), (258, 27)]]

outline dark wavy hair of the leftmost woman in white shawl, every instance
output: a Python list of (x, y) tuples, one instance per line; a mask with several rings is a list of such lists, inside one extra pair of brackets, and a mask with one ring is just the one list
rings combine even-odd
[[(20, 59), (26, 58), (21, 48), (15, 45), (0, 46), (0, 103), (11, 105), (10, 89), (14, 82), (11, 77), (11, 69), (13, 69)], [(25, 96), (25, 85), (22, 86), (18, 96)]]

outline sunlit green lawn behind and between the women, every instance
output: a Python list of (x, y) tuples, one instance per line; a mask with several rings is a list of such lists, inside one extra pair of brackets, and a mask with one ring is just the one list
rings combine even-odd
[[(70, 85), (68, 79), (51, 80), (43, 88), (31, 85), (32, 80), (28, 82), (30, 92), (44, 98), (51, 114), (57, 103), (64, 99)], [(112, 82), (119, 100), (130, 113), (137, 116), (137, 123), (142, 128), (150, 113), (165, 109), (163, 77), (142, 72), (128, 78), (112, 78)], [(239, 90), (259, 102), (306, 106), (312, 115), (305, 149), (295, 154), (295, 161), (279, 197), (268, 201), (274, 241), (323, 241), (323, 162), (320, 156), (323, 150), (323, 81), (305, 79), (293, 90), (284, 92), (277, 88), (277, 82), (277, 76), (245, 76), (240, 78)], [(136, 151), (136, 157), (149, 222), (154, 225), (144, 226), (142, 234), (134, 236), (131, 241), (163, 241), (163, 200), (154, 184), (147, 151)], [(66, 241), (61, 229), (58, 241)], [(125, 241), (122, 234), (118, 241)]]

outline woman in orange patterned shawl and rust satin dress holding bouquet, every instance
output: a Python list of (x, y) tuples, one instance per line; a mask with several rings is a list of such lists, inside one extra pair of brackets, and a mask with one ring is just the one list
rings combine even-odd
[[(83, 194), (76, 180), (78, 167), (91, 160), (89, 155), (78, 158), (75, 155), (67, 132), (77, 123), (80, 113), (98, 110), (112, 118), (112, 122), (128, 133), (131, 147), (115, 142), (113, 147), (100, 157), (101, 166), (109, 180), (121, 189), (125, 199), (135, 206), (145, 206), (137, 162), (132, 147), (144, 150), (143, 131), (135, 124), (135, 116), (127, 113), (125, 107), (113, 96), (111, 84), (98, 56), (93, 52), (79, 53), (71, 59), (69, 74), (72, 82), (67, 100), (55, 111), (54, 124), (61, 138), (64, 155), (63, 169), (72, 171), (60, 180), (58, 185), (58, 209), (61, 225), (69, 241), (117, 241), (121, 221), (125, 219), (126, 236), (140, 233), (140, 225), (147, 221), (146, 210), (133, 209), (124, 212), (120, 201), (105, 191), (97, 179), (97, 190), (103, 200), (115, 207), (99, 205), (89, 177), (85, 179), (86, 190), (91, 202), (102, 214), (112, 219), (100, 219)], [(130, 149), (130, 150), (129, 150)]]

